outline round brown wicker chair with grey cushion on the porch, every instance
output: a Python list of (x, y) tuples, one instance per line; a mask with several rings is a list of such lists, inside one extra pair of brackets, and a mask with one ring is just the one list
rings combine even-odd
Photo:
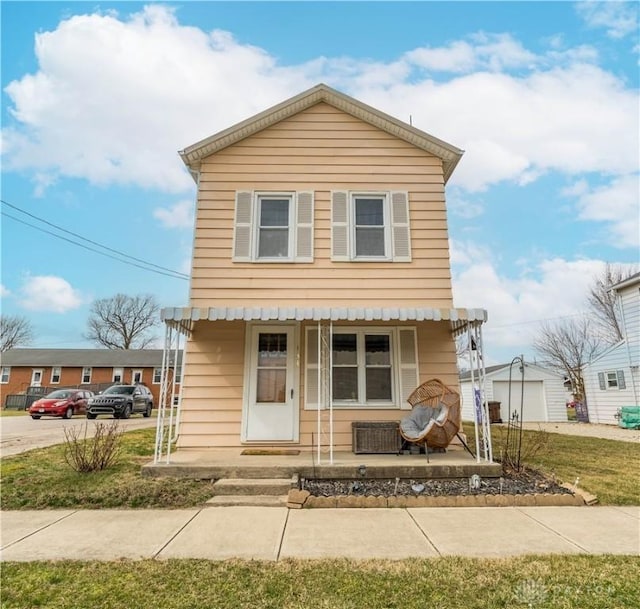
[[(460, 431), (460, 394), (447, 387), (438, 379), (431, 379), (407, 398), (407, 402), (416, 407), (437, 409), (437, 416), (420, 430), (410, 429), (411, 415), (400, 424), (400, 435), (406, 442), (423, 446), (428, 455), (428, 448), (446, 448)], [(412, 413), (414, 412), (412, 411)], [(404, 427), (404, 429), (403, 429)], [(417, 435), (415, 435), (417, 433)]]

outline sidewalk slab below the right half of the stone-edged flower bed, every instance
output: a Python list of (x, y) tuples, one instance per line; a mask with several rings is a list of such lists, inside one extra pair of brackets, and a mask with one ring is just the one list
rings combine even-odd
[[(560, 509), (566, 514), (571, 508)], [(443, 556), (499, 557), (584, 551), (518, 508), (410, 508), (408, 511)]]

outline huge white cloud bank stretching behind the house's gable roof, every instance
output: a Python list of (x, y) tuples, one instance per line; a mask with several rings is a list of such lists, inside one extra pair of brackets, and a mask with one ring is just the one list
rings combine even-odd
[[(166, 5), (74, 16), (37, 35), (38, 71), (6, 88), (3, 167), (37, 176), (40, 193), (58, 176), (187, 192), (177, 150), (324, 81), (463, 148), (450, 186), (469, 192), (549, 172), (615, 181), (636, 171), (637, 91), (600, 68), (592, 47), (547, 45), (534, 54), (512, 35), (478, 33), (388, 63), (285, 66), (229, 32), (181, 25)], [(164, 212), (165, 223), (186, 222), (181, 207)]]

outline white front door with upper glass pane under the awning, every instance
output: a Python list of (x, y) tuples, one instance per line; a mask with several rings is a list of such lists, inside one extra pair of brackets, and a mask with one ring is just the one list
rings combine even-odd
[(293, 326), (251, 328), (243, 441), (298, 440), (295, 340)]

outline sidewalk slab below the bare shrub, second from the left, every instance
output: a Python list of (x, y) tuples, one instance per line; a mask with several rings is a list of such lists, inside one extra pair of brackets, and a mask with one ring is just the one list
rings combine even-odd
[(197, 513), (198, 510), (79, 510), (4, 549), (2, 559), (152, 558)]

